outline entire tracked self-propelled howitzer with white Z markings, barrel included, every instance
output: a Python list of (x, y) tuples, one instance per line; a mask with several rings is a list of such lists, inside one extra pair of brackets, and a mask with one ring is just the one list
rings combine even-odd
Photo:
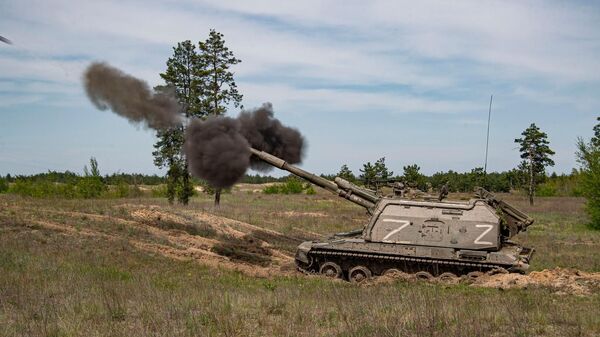
[(529, 267), (533, 249), (510, 238), (533, 220), (483, 189), (466, 202), (409, 199), (402, 193), (381, 197), (339, 177), (329, 181), (266, 152), (251, 151), (365, 207), (371, 215), (363, 229), (300, 244), (295, 259), (301, 271), (360, 282), (395, 271), (453, 279), (483, 272), (524, 273)]

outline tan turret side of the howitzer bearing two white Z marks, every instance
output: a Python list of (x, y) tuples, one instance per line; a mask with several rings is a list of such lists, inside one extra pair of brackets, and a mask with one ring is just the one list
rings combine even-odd
[(456, 249), (500, 249), (500, 219), (481, 200), (468, 203), (384, 199), (365, 240)]

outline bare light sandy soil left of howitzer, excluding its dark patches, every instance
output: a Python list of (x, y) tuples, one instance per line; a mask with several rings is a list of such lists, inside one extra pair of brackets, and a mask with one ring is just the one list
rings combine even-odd
[[(190, 221), (190, 219), (187, 219), (180, 214), (162, 211), (158, 206), (139, 207), (125, 205), (125, 207), (129, 209), (130, 216), (133, 220), (82, 212), (47, 211), (63, 214), (74, 219), (86, 217), (93, 221), (110, 221), (112, 223), (134, 227), (149, 234), (151, 239), (136, 238), (135, 236), (130, 236), (125, 239), (121, 235), (110, 234), (105, 231), (100, 232), (93, 228), (78, 228), (74, 225), (75, 221), (57, 223), (46, 220), (33, 220), (31, 223), (35, 226), (32, 226), (30, 230), (36, 231), (36, 228), (42, 227), (46, 230), (57, 232), (60, 235), (72, 237), (87, 237), (108, 241), (127, 240), (133, 247), (148, 253), (159, 254), (176, 260), (194, 260), (214, 268), (236, 270), (257, 277), (295, 274), (293, 257), (290, 256), (289, 253), (274, 248), (269, 242), (251, 236), (253, 232), (261, 231), (262, 233), (268, 233), (275, 237), (284, 237), (279, 232), (199, 211), (187, 212), (185, 214), (186, 216), (192, 217), (193, 221)], [(26, 210), (22, 211), (26, 212)], [(44, 211), (46, 212), (46, 210)], [(164, 228), (164, 226), (161, 226), (161, 224), (164, 223), (176, 223), (185, 226), (185, 224), (190, 224), (190, 222), (200, 222), (205, 224), (216, 234), (213, 235), (214, 237), (203, 237), (201, 235), (189, 234), (186, 230), (180, 228)], [(263, 248), (263, 251), (267, 252), (266, 255), (268, 255), (268, 265), (263, 266), (245, 263), (215, 253), (213, 248), (216, 245), (226, 242), (228, 240), (227, 238), (235, 238), (240, 242), (250, 241), (252, 245)]]

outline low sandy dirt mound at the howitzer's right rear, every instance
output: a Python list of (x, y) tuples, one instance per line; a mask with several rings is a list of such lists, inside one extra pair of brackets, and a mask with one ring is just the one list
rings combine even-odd
[(554, 289), (557, 293), (585, 296), (600, 291), (600, 273), (554, 268), (533, 271), (527, 275), (515, 273), (484, 275), (475, 280), (472, 285), (499, 289), (541, 286)]

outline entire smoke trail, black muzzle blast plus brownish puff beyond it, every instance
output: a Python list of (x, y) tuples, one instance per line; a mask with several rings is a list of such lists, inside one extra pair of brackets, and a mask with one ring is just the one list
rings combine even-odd
[[(154, 93), (146, 82), (104, 63), (91, 64), (84, 75), (85, 89), (94, 105), (110, 109), (133, 123), (153, 129), (181, 125), (183, 109), (168, 93)], [(297, 164), (302, 161), (304, 139), (273, 115), (271, 103), (244, 110), (237, 118), (189, 119), (184, 152), (190, 173), (216, 188), (235, 184), (249, 167), (272, 167), (251, 156), (250, 148)]]

